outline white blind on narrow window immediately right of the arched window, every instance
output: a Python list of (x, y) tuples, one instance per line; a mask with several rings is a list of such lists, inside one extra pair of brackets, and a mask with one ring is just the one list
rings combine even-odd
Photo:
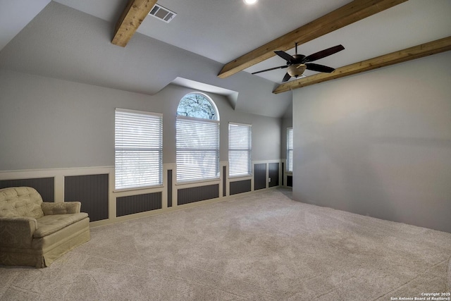
[(229, 123), (228, 125), (228, 175), (251, 174), (252, 126)]

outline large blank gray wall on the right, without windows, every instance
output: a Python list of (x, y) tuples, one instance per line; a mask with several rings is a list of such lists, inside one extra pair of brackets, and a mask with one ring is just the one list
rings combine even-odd
[(295, 90), (295, 199), (451, 232), (451, 51)]

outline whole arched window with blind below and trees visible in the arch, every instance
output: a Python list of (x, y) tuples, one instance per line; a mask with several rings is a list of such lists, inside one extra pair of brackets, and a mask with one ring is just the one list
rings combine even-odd
[(177, 108), (177, 182), (219, 178), (219, 114), (206, 94), (193, 92)]

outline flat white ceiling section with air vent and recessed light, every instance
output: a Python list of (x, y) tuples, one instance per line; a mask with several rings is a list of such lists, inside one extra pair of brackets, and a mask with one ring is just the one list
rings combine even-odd
[[(116, 23), (127, 0), (56, 0)], [(228, 63), (290, 30), (347, 4), (350, 0), (159, 0), (177, 16), (170, 23), (148, 16), (137, 32)]]

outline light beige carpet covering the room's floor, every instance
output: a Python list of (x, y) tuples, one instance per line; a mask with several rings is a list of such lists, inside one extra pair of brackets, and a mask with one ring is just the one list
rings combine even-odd
[(390, 300), (447, 289), (451, 233), (266, 190), (92, 229), (49, 268), (0, 266), (0, 300)]

